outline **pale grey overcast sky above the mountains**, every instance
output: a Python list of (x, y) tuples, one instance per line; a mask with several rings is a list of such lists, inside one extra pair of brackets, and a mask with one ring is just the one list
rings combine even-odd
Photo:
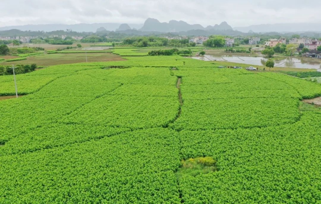
[(321, 22), (315, 0), (1, 0), (0, 27), (26, 24), (182, 20), (203, 26)]

